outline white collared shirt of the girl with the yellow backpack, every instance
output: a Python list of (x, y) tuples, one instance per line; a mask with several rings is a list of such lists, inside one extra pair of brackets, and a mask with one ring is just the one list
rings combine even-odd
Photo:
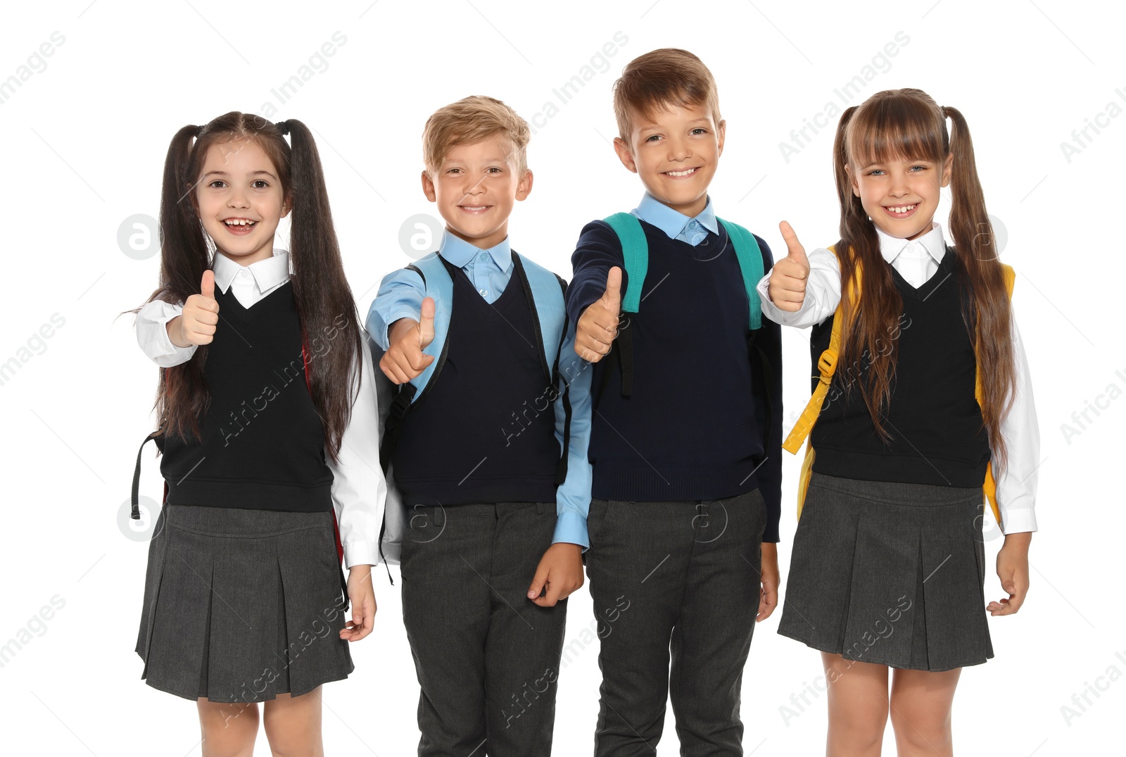
[[(938, 271), (946, 255), (942, 226), (935, 223), (930, 231), (915, 240), (891, 237), (878, 228), (879, 252), (910, 284), (919, 288)], [(806, 329), (821, 323), (837, 311), (841, 299), (841, 270), (837, 256), (817, 248), (806, 256), (810, 278), (805, 300), (796, 312), (778, 310), (770, 301), (768, 273), (759, 282), (762, 314), (776, 323)], [(1001, 436), (1009, 453), (1008, 465), (997, 479), (997, 501), (1007, 534), (1036, 531), (1036, 483), (1040, 463), (1040, 433), (1036, 420), (1036, 403), (1028, 358), (1017, 329), (1016, 314), (1010, 319), (1012, 357), (1017, 369), (1017, 388), (1009, 413), (1001, 420)], [(994, 471), (997, 473), (997, 471)]]

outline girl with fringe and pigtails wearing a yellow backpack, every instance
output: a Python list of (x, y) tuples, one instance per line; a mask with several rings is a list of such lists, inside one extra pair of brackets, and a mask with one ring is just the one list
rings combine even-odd
[[(958, 110), (878, 92), (842, 114), (833, 153), (840, 241), (806, 256), (783, 222), (789, 253), (759, 284), (768, 318), (813, 327), (814, 397), (784, 445), (810, 435), (778, 632), (822, 652), (829, 755), (878, 755), (888, 714), (900, 755), (950, 755), (958, 676), (993, 657), (984, 611), (1024, 603), (1036, 531), (1013, 274)], [(933, 222), (947, 186), (953, 248)], [(1009, 595), (988, 607), (983, 490)]]

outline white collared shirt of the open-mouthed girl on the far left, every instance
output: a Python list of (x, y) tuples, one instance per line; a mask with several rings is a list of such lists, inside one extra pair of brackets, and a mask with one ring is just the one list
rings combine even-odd
[[(242, 266), (221, 252), (215, 255), (215, 286), (234, 295), (243, 308), (252, 308), (266, 295), (289, 280), (289, 256), (274, 250), (272, 257)], [(171, 367), (191, 359), (196, 347), (177, 347), (168, 338), (167, 323), (184, 310), (182, 304), (153, 301), (136, 317), (137, 344), (157, 365)], [(222, 318), (220, 313), (220, 318)], [(352, 402), (351, 420), (345, 429), (339, 460), (332, 471), (332, 507), (345, 547), (345, 565), (375, 565), (379, 562), (379, 531), (387, 483), (379, 467), (378, 415), (372, 355), (361, 340), (359, 359), (360, 391)], [(356, 384), (352, 374), (352, 386)]]

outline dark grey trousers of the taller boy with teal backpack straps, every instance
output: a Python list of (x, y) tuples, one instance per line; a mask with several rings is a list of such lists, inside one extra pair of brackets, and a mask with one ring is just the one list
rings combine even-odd
[(596, 499), (588, 526), (602, 669), (595, 755), (654, 755), (667, 700), (683, 757), (742, 755), (740, 689), (766, 529), (761, 495)]

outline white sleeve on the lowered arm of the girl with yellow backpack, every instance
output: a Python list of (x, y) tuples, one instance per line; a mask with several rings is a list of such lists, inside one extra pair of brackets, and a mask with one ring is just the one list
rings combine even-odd
[(1001, 528), (1006, 534), (1036, 531), (1037, 471), (1043, 462), (1028, 357), (1015, 315), (1011, 321), (1017, 388), (1012, 407), (1001, 421), (1001, 438), (1004, 439), (1009, 460), (997, 481), (998, 509), (1001, 511)]

